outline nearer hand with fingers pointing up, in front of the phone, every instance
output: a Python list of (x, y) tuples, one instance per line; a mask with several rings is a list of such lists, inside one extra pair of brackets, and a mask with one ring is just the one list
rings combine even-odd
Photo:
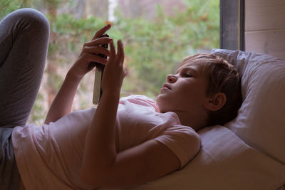
[(110, 58), (105, 65), (101, 85), (103, 95), (120, 93), (120, 88), (126, 75), (125, 70), (123, 70), (124, 58), (122, 41), (118, 41), (118, 53), (115, 53), (115, 46), (113, 42), (110, 42)]

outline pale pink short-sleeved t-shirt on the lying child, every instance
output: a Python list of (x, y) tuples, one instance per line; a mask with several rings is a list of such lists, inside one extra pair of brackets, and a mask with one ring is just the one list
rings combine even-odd
[[(49, 125), (16, 127), (12, 141), (16, 163), (26, 189), (92, 189), (79, 177), (86, 132), (95, 108), (71, 112)], [(118, 151), (149, 139), (165, 144), (184, 167), (195, 155), (189, 148), (191, 127), (175, 112), (158, 112), (156, 102), (142, 95), (120, 99), (116, 121)], [(195, 137), (199, 135), (195, 133)], [(100, 164), (100, 163), (98, 163)]]

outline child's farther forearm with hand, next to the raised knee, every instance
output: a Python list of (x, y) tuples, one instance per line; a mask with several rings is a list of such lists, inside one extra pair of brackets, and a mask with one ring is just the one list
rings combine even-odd
[(78, 85), (83, 76), (92, 70), (92, 68), (89, 67), (90, 62), (98, 62), (102, 64), (107, 63), (107, 59), (101, 58), (98, 56), (98, 53), (102, 53), (105, 56), (110, 55), (110, 51), (108, 51), (108, 49), (99, 46), (104, 43), (110, 43), (110, 41), (112, 41), (110, 38), (100, 38), (100, 36), (102, 36), (105, 31), (108, 31), (109, 28), (110, 25), (101, 28), (97, 33), (95, 33), (92, 41), (86, 42), (84, 44), (80, 56), (73, 64), (71, 69), (68, 70), (66, 78), (63, 81), (63, 85), (61, 86), (51, 104), (50, 109), (48, 110), (45, 124), (48, 124), (49, 122), (55, 122), (56, 120), (71, 112), (73, 99), (76, 95)]

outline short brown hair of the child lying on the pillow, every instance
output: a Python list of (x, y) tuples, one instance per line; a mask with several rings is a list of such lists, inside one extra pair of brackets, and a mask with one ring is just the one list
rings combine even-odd
[(227, 102), (215, 111), (208, 111), (207, 125), (224, 125), (237, 117), (237, 111), (242, 105), (241, 75), (227, 60), (212, 53), (198, 53), (182, 60), (180, 67), (185, 63), (199, 63), (202, 73), (206, 76), (207, 96), (224, 93)]

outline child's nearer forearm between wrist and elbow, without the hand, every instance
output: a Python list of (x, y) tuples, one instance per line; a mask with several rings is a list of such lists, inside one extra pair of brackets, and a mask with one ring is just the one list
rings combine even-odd
[(82, 165), (86, 174), (96, 173), (96, 170), (104, 172), (102, 170), (108, 170), (115, 160), (115, 121), (119, 98), (120, 92), (103, 93), (100, 99), (86, 136)]

